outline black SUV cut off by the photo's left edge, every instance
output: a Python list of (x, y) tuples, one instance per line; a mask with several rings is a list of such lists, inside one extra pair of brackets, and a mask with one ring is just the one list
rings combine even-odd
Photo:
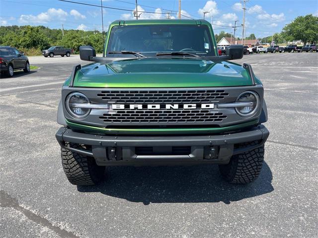
[(30, 72), (29, 59), (15, 48), (0, 46), (0, 72), (11, 77), (13, 71), (18, 69)]

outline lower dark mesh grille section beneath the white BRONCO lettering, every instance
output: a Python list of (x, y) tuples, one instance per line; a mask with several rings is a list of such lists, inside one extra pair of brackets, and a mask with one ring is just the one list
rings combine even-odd
[(103, 114), (99, 117), (104, 122), (140, 123), (140, 122), (214, 122), (227, 118), (222, 113), (212, 113), (210, 110), (129, 110), (116, 111), (116, 114)]

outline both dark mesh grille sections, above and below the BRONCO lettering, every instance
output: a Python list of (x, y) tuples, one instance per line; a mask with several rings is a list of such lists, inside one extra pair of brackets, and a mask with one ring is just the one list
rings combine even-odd
[[(204, 104), (216, 103), (229, 96), (225, 90), (140, 90), (101, 91), (102, 100), (113, 104)], [(220, 122), (227, 118), (222, 113), (207, 109), (134, 109), (116, 110), (116, 114), (103, 114), (106, 123), (196, 123)]]

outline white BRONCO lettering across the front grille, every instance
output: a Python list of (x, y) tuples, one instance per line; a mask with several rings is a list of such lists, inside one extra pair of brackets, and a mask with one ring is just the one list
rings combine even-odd
[(214, 109), (214, 104), (112, 104), (113, 110), (123, 109)]

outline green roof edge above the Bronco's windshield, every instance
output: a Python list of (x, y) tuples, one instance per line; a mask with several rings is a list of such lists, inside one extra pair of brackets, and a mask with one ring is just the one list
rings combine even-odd
[(203, 19), (151, 19), (151, 20), (116, 20), (111, 25), (152, 25), (152, 24), (186, 24), (186, 25), (208, 25)]

